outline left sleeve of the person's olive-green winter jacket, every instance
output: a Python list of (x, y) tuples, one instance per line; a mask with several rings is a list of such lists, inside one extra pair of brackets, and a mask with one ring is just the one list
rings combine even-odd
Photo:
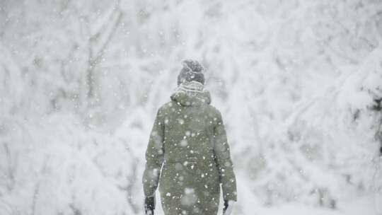
[(144, 194), (146, 197), (155, 195), (158, 187), (159, 176), (163, 163), (164, 148), (163, 135), (164, 124), (161, 117), (161, 110), (158, 110), (153, 129), (149, 137), (149, 144), (146, 149), (146, 168), (142, 178)]

